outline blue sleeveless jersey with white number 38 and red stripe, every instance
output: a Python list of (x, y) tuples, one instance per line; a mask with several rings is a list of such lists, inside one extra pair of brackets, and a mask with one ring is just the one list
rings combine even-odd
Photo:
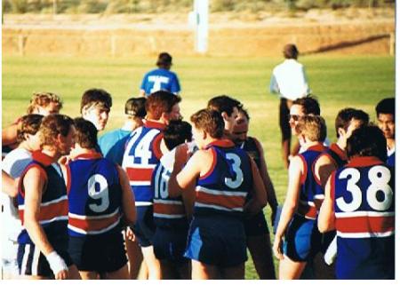
[(332, 173), (339, 279), (394, 278), (395, 173), (356, 157)]

